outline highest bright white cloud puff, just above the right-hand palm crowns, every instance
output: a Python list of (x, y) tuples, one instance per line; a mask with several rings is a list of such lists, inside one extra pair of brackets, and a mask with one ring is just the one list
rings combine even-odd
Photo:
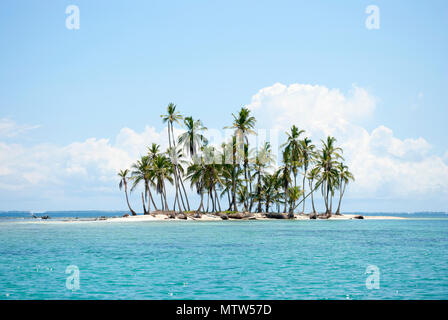
[(286, 130), (293, 123), (308, 132), (334, 134), (347, 124), (370, 115), (375, 98), (353, 86), (349, 95), (325, 86), (276, 83), (252, 97), (249, 109), (260, 115), (262, 128)]

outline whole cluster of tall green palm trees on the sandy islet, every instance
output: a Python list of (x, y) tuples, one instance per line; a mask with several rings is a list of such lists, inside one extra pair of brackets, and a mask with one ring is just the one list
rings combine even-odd
[[(242, 210), (294, 215), (305, 213), (307, 198), (311, 199), (313, 214), (317, 214), (314, 195), (318, 190), (325, 205), (323, 215), (332, 215), (334, 198), (335, 214), (340, 214), (346, 187), (354, 177), (343, 163), (342, 149), (335, 146), (334, 137), (322, 140), (317, 149), (311, 139), (302, 138), (304, 130), (292, 126), (281, 145), (281, 166), (276, 167), (269, 142), (250, 148), (248, 136), (256, 134), (256, 119), (250, 110), (242, 107), (232, 116), (232, 125), (225, 127), (232, 129), (231, 138), (216, 147), (209, 145), (204, 136), (207, 128), (200, 120), (182, 117), (170, 103), (167, 114), (161, 116), (167, 124), (168, 149), (162, 152), (153, 143), (130, 169), (118, 173), (131, 214), (136, 215), (129, 203), (128, 182), (130, 192), (143, 186), (144, 214), (153, 208), (174, 214)], [(184, 127), (185, 132), (176, 137), (174, 125)], [(172, 206), (167, 200), (167, 184), (175, 190)], [(197, 208), (190, 206), (185, 184), (200, 197)]]

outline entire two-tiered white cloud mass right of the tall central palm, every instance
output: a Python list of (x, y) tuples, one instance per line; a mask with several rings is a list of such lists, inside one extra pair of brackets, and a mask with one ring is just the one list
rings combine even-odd
[(399, 139), (383, 125), (368, 132), (359, 124), (373, 114), (376, 100), (357, 86), (344, 94), (319, 85), (276, 83), (259, 90), (248, 107), (262, 127), (286, 131), (295, 124), (315, 142), (337, 137), (356, 178), (353, 197), (448, 194), (448, 152), (444, 162), (430, 154), (422, 137)]

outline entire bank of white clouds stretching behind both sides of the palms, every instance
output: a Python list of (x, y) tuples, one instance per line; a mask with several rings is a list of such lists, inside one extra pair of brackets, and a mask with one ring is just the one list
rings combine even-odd
[[(435, 155), (423, 137), (399, 138), (384, 125), (365, 129), (360, 123), (374, 113), (376, 101), (358, 86), (344, 93), (319, 85), (276, 83), (259, 90), (248, 105), (261, 129), (251, 138), (259, 143), (271, 140), (275, 150), (282, 138), (275, 132), (284, 132), (293, 124), (305, 129), (317, 145), (327, 135), (337, 137), (356, 178), (348, 198), (447, 196), (448, 151)], [(18, 194), (34, 188), (30, 192), (34, 197), (35, 190), (49, 197), (73, 195), (78, 189), (102, 195), (116, 189), (117, 171), (129, 168), (151, 143), (160, 144), (161, 150), (168, 146), (166, 128), (159, 131), (150, 126), (141, 132), (123, 128), (112, 139), (92, 137), (65, 146), (28, 147), (5, 140), (35, 127), (0, 120), (0, 190)], [(181, 132), (175, 130), (177, 136)], [(218, 129), (210, 129), (207, 135), (213, 144), (225, 139)]]

